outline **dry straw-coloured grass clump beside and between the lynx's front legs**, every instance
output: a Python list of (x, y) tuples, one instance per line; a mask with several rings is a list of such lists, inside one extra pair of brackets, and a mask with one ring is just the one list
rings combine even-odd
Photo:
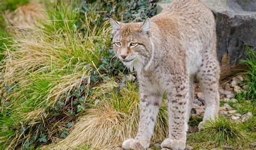
[[(45, 148), (113, 148), (122, 145), (127, 138), (134, 138), (139, 119), (138, 88), (127, 83), (126, 87), (117, 93), (114, 92), (114, 88), (118, 88), (118, 83), (113, 80), (97, 88), (103, 93), (99, 103), (79, 119), (66, 139)], [(167, 110), (163, 104), (158, 115), (153, 142), (166, 138), (167, 122)]]

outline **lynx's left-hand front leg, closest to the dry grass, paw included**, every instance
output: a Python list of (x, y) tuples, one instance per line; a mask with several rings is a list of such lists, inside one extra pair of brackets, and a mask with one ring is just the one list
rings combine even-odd
[(128, 139), (123, 142), (124, 149), (145, 149), (150, 145), (153, 135), (154, 124), (157, 119), (161, 94), (148, 92), (140, 89), (140, 118), (139, 128), (135, 139)]

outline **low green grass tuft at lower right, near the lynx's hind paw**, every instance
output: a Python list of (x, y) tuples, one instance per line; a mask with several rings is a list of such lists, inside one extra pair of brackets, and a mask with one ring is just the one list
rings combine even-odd
[(204, 124), (204, 131), (192, 134), (187, 142), (195, 147), (218, 147), (232, 145), (238, 147), (248, 142), (244, 128), (235, 121), (220, 116), (215, 120), (207, 120)]

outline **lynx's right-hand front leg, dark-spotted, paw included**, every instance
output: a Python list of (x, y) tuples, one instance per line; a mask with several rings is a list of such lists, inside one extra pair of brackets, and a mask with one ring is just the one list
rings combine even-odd
[(165, 139), (161, 147), (171, 149), (185, 149), (186, 126), (189, 84), (186, 76), (179, 76), (172, 80), (169, 86), (168, 111), (169, 111), (169, 139)]

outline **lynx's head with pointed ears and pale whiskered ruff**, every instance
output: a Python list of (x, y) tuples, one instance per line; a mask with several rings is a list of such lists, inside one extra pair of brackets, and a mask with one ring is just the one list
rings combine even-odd
[(120, 23), (110, 18), (113, 28), (113, 50), (124, 65), (140, 71), (152, 62), (150, 19), (143, 23)]

